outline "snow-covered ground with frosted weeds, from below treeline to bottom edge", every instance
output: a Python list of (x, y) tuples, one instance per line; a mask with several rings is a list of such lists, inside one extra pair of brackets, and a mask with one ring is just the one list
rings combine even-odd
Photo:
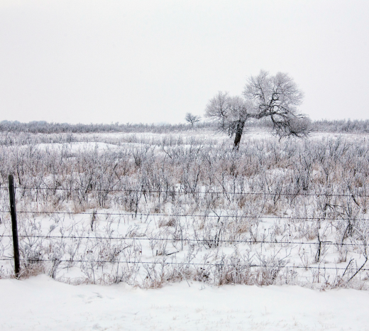
[(368, 185), (363, 135), (0, 136), (1, 330), (367, 330)]

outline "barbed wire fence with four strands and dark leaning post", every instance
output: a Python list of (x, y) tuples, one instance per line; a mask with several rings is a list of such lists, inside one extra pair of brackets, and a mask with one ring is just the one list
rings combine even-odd
[[(18, 227), (17, 227), (17, 220), (16, 220), (16, 214), (22, 213), (22, 214), (33, 214), (33, 215), (72, 215), (74, 212), (55, 212), (55, 211), (31, 211), (31, 210), (20, 210), (16, 211), (16, 200), (15, 200), (15, 191), (18, 190), (66, 190), (66, 191), (72, 191), (72, 190), (81, 190), (80, 188), (51, 188), (51, 187), (38, 187), (38, 188), (31, 188), (31, 187), (22, 187), (18, 186), (15, 187), (13, 183), (13, 175), (9, 175), (9, 188), (6, 188), (4, 186), (0, 186), (0, 190), (9, 190), (9, 210), (0, 210), (0, 213), (9, 213), (11, 214), (11, 223), (12, 223), (12, 235), (0, 235), (1, 237), (9, 237), (13, 239), (13, 257), (8, 256), (6, 258), (0, 259), (0, 261), (14, 261), (14, 272), (16, 275), (16, 278), (18, 278), (21, 275), (21, 261), (26, 262), (52, 262), (52, 259), (21, 259), (19, 254), (19, 248), (18, 248), (18, 238), (43, 238), (43, 239), (109, 239), (109, 240), (138, 240), (138, 241), (145, 241), (145, 240), (156, 240), (156, 241), (176, 241), (176, 242), (208, 242), (209, 239), (170, 239), (170, 238), (156, 238), (156, 237), (99, 237), (99, 236), (51, 236), (51, 235), (36, 235), (36, 234), (18, 234)], [(284, 193), (284, 192), (226, 192), (226, 190), (223, 191), (188, 191), (188, 190), (135, 190), (135, 189), (126, 189), (126, 190), (104, 190), (104, 189), (88, 189), (89, 191), (100, 191), (100, 192), (136, 192), (141, 194), (151, 194), (151, 193), (165, 193), (165, 194), (184, 194), (184, 195), (281, 195), (281, 196), (307, 196), (307, 197), (369, 197), (369, 195), (358, 195), (355, 193), (330, 193), (330, 192), (318, 192), (318, 193), (307, 193), (307, 192), (293, 192), (293, 193)], [(322, 217), (294, 217), (294, 216), (265, 216), (265, 215), (209, 215), (209, 213), (206, 214), (165, 214), (165, 213), (142, 213), (142, 212), (78, 212), (79, 215), (115, 215), (115, 216), (134, 216), (134, 217), (216, 217), (220, 219), (221, 217), (233, 217), (233, 218), (249, 218), (249, 219), (300, 219), (300, 220), (314, 220), (314, 219), (323, 219)], [(324, 220), (329, 221), (338, 221), (342, 220), (343, 218), (335, 218), (335, 217), (324, 217)], [(364, 222), (368, 222), (369, 219), (365, 218), (355, 218), (351, 217), (351, 221), (360, 220)], [(331, 246), (364, 246), (365, 251), (366, 247), (368, 246), (368, 243), (338, 243), (338, 242), (327, 242), (327, 241), (320, 241), (319, 242), (296, 242), (296, 241), (268, 241), (268, 240), (256, 240), (256, 239), (238, 239), (238, 240), (224, 240), (224, 239), (218, 239), (218, 242), (226, 242), (226, 243), (235, 243), (235, 244), (277, 244), (277, 245), (331, 245)], [(168, 254), (170, 255), (170, 254)], [(352, 279), (356, 274), (358, 274), (360, 271), (369, 271), (369, 268), (364, 268), (365, 263), (360, 266), (360, 268), (356, 267), (356, 270), (353, 271), (353, 276), (351, 276), (350, 279)], [(189, 263), (189, 262), (175, 262), (175, 261), (121, 261), (121, 259), (117, 260), (94, 260), (94, 259), (58, 259), (58, 262), (80, 262), (80, 263), (110, 263), (110, 264), (160, 264), (160, 265), (185, 265), (185, 266), (206, 266), (206, 267), (221, 267), (225, 266), (223, 263)], [(295, 265), (285, 265), (284, 268), (302, 268), (304, 270), (336, 270), (336, 271), (348, 271), (348, 269), (352, 269), (353, 266), (351, 265), (352, 261), (348, 262), (348, 265), (346, 267), (329, 267), (329, 266), (295, 266)], [(248, 268), (264, 268), (266, 267), (263, 264), (248, 264)]]

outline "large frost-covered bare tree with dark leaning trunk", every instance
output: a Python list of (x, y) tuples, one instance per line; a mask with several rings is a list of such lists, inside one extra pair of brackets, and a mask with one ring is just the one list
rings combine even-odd
[(309, 119), (297, 112), (302, 98), (302, 91), (289, 75), (278, 72), (272, 76), (261, 70), (258, 76), (248, 79), (243, 97), (218, 92), (209, 100), (205, 116), (216, 122), (219, 130), (235, 136), (233, 149), (238, 150), (248, 119), (269, 118), (280, 138), (307, 136)]

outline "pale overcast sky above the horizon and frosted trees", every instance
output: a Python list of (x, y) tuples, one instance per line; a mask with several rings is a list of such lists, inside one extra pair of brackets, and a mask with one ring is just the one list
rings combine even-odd
[(184, 121), (260, 69), (369, 119), (369, 1), (0, 0), (0, 121)]

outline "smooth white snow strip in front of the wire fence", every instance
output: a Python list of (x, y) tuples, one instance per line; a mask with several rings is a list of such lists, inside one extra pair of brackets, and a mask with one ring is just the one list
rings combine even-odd
[[(190, 286), (190, 287), (189, 287)], [(369, 330), (369, 293), (298, 286), (156, 290), (0, 280), (1, 330)]]

